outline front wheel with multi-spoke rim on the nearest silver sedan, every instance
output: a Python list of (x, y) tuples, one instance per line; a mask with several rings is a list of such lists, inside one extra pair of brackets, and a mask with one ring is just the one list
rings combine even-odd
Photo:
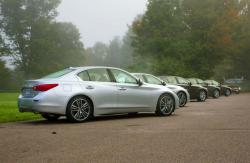
[(170, 116), (175, 110), (175, 99), (171, 94), (159, 97), (155, 113), (159, 116)]

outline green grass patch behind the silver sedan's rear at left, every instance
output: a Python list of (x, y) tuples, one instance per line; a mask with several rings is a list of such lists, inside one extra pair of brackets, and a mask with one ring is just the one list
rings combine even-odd
[(17, 107), (18, 93), (0, 93), (0, 123), (41, 118), (33, 113), (20, 113)]

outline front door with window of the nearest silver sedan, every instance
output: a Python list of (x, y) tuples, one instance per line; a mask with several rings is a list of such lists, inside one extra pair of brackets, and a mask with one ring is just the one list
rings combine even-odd
[(140, 112), (151, 109), (149, 87), (140, 86), (137, 79), (125, 71), (110, 69), (110, 72), (117, 83), (117, 107), (122, 112)]

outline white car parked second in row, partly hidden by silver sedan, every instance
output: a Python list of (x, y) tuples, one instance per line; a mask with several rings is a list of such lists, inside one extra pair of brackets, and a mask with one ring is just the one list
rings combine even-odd
[(145, 74), (145, 73), (132, 73), (132, 74), (146, 83), (155, 84), (155, 85), (163, 85), (171, 89), (172, 91), (174, 91), (179, 97), (180, 107), (184, 107), (190, 101), (190, 95), (188, 91), (183, 87), (167, 84), (160, 78), (151, 74)]

